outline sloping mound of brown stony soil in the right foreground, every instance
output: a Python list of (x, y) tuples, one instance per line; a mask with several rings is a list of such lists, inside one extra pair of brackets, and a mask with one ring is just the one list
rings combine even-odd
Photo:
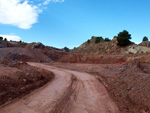
[[(124, 65), (116, 76), (99, 73), (122, 113), (150, 112), (150, 66), (139, 61)], [(112, 71), (110, 71), (113, 73)]]

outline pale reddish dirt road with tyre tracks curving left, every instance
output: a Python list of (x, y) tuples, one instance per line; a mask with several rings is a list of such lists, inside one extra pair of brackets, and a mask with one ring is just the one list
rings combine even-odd
[(0, 113), (119, 113), (105, 87), (87, 73), (29, 63), (50, 70), (55, 79), (26, 97), (0, 108)]

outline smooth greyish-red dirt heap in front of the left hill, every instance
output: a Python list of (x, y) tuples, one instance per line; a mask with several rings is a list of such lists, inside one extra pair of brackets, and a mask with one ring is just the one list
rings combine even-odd
[(28, 48), (0, 48), (1, 60), (19, 60), (32, 62), (51, 62), (40, 50)]

